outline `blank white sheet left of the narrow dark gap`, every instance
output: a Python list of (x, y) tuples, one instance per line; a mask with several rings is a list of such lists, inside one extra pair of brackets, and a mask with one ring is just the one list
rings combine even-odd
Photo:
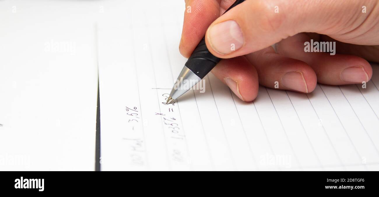
[(19, 11), (0, 31), (0, 170), (93, 171), (95, 27)]

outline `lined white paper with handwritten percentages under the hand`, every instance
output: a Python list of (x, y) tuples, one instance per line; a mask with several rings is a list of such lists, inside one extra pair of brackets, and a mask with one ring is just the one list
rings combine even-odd
[(166, 105), (186, 61), (182, 26), (149, 13), (99, 24), (101, 170), (379, 169), (377, 65), (366, 88), (260, 87), (250, 103), (208, 74), (204, 93)]

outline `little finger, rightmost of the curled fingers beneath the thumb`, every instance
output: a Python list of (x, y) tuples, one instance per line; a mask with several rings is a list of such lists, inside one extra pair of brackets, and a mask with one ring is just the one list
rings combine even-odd
[[(296, 34), (278, 44), (278, 52), (309, 64), (314, 70), (319, 83), (327, 85), (345, 85), (367, 82), (373, 70), (365, 59), (345, 54), (328, 54), (324, 52), (304, 52), (304, 42), (312, 39), (309, 34)], [(315, 40), (318, 38), (313, 37)], [(309, 84), (309, 92), (312, 90)]]

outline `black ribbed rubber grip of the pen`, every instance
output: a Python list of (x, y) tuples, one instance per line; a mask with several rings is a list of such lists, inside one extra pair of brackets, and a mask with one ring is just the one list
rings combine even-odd
[(188, 58), (185, 66), (199, 78), (204, 78), (220, 60), (221, 58), (209, 52), (207, 45), (205, 45), (205, 38), (203, 38), (199, 45), (196, 46), (191, 57)]

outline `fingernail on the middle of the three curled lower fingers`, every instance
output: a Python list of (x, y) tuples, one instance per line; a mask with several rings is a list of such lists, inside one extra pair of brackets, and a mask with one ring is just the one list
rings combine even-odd
[(300, 71), (287, 72), (283, 75), (281, 82), (285, 88), (308, 93), (307, 83), (305, 83), (303, 73)]

